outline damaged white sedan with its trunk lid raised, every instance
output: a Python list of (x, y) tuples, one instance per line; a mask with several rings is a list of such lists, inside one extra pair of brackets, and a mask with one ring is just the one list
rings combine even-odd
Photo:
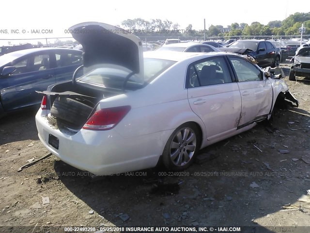
[(287, 84), (234, 53), (142, 53), (141, 40), (103, 23), (70, 28), (83, 75), (49, 86), (36, 115), (44, 146), (96, 175), (157, 165), (182, 170), (197, 152), (270, 118)]

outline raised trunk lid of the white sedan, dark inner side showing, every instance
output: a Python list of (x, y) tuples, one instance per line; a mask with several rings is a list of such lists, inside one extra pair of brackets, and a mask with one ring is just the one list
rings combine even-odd
[(79, 23), (69, 30), (73, 38), (83, 46), (86, 70), (94, 65), (114, 64), (143, 77), (143, 49), (138, 36), (99, 22)]

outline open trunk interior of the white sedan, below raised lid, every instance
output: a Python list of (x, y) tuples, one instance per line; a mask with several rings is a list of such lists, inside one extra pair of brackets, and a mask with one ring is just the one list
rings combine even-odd
[(57, 84), (50, 91), (76, 93), (49, 95), (50, 117), (47, 117), (49, 123), (63, 133), (69, 134), (75, 134), (83, 127), (96, 111), (100, 100), (123, 93), (122, 90), (102, 90), (80, 83), (73, 84), (71, 81)]

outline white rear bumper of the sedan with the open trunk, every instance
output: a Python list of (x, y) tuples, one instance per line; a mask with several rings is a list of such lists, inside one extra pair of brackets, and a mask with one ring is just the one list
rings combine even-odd
[[(154, 146), (147, 143), (156, 142), (162, 136), (161, 132), (126, 139), (113, 129), (82, 129), (76, 134), (66, 134), (59, 129), (53, 129), (45, 114), (46, 110), (43, 114), (40, 109), (35, 121), (38, 136), (47, 150), (63, 162), (95, 175), (111, 175), (154, 167), (165, 146), (159, 148), (156, 143)], [(58, 150), (48, 143), (49, 134), (58, 138)]]

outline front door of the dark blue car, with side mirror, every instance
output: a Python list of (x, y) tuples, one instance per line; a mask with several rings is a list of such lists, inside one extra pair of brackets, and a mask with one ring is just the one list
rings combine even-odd
[(53, 54), (41, 51), (24, 56), (12, 64), (16, 71), (3, 77), (1, 101), (5, 111), (38, 104), (42, 96), (35, 91), (44, 91), (55, 83), (54, 69), (51, 66)]

